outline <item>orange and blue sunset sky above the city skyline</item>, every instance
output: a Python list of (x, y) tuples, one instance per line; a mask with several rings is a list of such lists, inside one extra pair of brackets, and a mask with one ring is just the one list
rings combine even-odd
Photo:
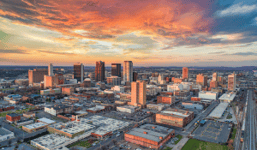
[(0, 65), (257, 66), (256, 0), (0, 0)]

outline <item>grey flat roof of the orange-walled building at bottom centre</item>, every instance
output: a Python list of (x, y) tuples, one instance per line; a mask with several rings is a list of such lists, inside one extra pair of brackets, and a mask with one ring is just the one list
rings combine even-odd
[[(144, 124), (139, 128), (133, 128), (127, 134), (138, 136), (155, 142), (162, 141), (166, 136), (171, 133), (173, 129), (166, 128), (159, 125)], [(147, 134), (145, 134), (147, 133)], [(163, 139), (160, 139), (162, 137)]]

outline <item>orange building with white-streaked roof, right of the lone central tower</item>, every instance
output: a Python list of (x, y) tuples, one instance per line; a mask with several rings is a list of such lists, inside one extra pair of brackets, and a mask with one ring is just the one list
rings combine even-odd
[(193, 111), (169, 108), (156, 114), (156, 123), (184, 127), (194, 119)]

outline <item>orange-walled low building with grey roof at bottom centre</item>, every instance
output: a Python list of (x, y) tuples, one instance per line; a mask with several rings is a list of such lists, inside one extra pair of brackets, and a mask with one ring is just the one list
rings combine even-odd
[(139, 144), (149, 149), (159, 149), (174, 136), (174, 129), (159, 125), (144, 124), (125, 133), (124, 138), (128, 142)]

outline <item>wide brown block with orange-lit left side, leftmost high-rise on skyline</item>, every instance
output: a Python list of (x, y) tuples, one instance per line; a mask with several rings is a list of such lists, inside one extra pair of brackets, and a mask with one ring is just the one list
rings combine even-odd
[(28, 71), (29, 84), (40, 83), (44, 81), (44, 76), (47, 75), (46, 69), (34, 69)]

